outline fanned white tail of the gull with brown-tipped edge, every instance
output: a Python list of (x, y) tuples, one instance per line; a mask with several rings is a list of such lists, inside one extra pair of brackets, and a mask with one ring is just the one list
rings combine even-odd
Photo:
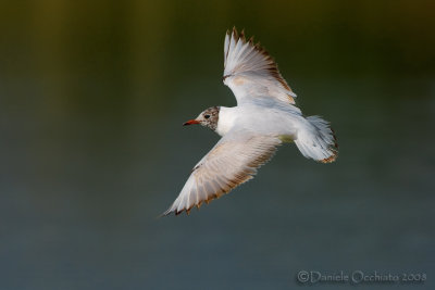
[(320, 116), (309, 116), (298, 130), (296, 146), (303, 156), (322, 163), (334, 162), (338, 144), (330, 123)]

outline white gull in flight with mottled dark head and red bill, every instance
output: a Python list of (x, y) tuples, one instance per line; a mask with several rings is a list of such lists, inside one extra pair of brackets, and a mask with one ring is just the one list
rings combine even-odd
[(212, 106), (184, 125), (200, 124), (222, 136), (191, 171), (182, 192), (163, 215), (199, 206), (251, 179), (277, 147), (295, 142), (300, 153), (334, 162), (338, 146), (328, 122), (303, 116), (296, 94), (272, 56), (244, 31), (227, 31), (223, 83), (237, 100), (233, 108)]

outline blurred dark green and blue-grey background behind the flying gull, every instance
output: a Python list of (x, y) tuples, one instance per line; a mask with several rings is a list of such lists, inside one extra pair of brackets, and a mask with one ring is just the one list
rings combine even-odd
[[(434, 11), (0, 1), (0, 289), (294, 289), (300, 269), (426, 273), (403, 287), (433, 289)], [(236, 104), (221, 80), (234, 25), (332, 122), (340, 156), (283, 147), (231, 194), (157, 218), (219, 139), (183, 122)]]

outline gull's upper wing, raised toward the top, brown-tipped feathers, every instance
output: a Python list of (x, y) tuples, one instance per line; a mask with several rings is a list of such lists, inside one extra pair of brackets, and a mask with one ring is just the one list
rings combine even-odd
[(224, 84), (243, 103), (256, 97), (270, 97), (295, 104), (291, 91), (272, 56), (252, 38), (246, 40), (244, 31), (227, 31), (224, 43)]

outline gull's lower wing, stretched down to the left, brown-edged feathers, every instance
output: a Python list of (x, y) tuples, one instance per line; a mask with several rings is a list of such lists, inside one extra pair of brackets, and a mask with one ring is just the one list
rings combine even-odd
[(220, 198), (248, 181), (257, 168), (275, 153), (281, 140), (250, 131), (229, 131), (194, 167), (189, 179), (171, 207), (163, 213), (189, 213), (195, 205)]

